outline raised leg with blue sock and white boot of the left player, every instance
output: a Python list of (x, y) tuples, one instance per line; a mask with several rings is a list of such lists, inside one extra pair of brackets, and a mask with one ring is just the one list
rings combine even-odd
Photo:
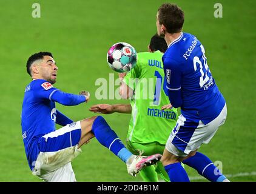
[(129, 175), (135, 176), (143, 167), (155, 164), (161, 158), (160, 154), (151, 156), (133, 155), (126, 149), (121, 139), (118, 138), (102, 116), (84, 119), (81, 121), (81, 128), (82, 133), (79, 147), (95, 136), (100, 144), (107, 147), (126, 163)]

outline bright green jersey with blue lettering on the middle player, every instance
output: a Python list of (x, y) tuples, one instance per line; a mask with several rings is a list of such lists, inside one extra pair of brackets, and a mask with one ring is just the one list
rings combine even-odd
[(132, 118), (127, 140), (148, 143), (166, 141), (177, 121), (177, 109), (161, 110), (170, 104), (164, 78), (163, 53), (160, 51), (138, 53), (135, 67), (123, 81), (135, 90), (130, 101)]

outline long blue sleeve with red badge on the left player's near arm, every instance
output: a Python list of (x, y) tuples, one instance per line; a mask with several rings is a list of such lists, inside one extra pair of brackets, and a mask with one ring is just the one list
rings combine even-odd
[(86, 101), (84, 95), (62, 92), (47, 81), (37, 81), (35, 87), (35, 96), (41, 100), (55, 101), (62, 105), (78, 105)]

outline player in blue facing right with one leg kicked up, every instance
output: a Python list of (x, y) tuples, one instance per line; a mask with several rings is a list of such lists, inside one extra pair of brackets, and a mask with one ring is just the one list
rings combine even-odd
[[(161, 158), (160, 154), (133, 155), (102, 116), (73, 122), (56, 110), (55, 102), (78, 105), (87, 102), (90, 95), (89, 92), (73, 95), (53, 87), (58, 67), (52, 53), (39, 52), (30, 56), (27, 72), (33, 80), (25, 88), (21, 126), (33, 175), (44, 181), (76, 181), (70, 162), (81, 152), (80, 147), (93, 137), (127, 164), (130, 175)], [(64, 127), (55, 130), (55, 123)]]

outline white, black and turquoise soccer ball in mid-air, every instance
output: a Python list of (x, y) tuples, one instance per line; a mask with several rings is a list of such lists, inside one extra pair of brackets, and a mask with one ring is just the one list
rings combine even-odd
[(118, 73), (129, 72), (136, 65), (136, 61), (136, 50), (126, 42), (112, 45), (107, 52), (107, 64)]

